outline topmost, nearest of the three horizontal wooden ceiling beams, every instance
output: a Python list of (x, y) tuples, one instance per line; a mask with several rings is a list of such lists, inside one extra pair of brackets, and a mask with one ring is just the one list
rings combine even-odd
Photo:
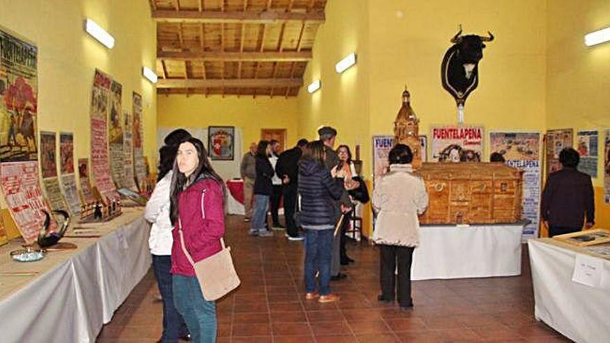
[(282, 21), (311, 21), (322, 24), (324, 19), (323, 12), (153, 10), (153, 20), (158, 22), (276, 24)]

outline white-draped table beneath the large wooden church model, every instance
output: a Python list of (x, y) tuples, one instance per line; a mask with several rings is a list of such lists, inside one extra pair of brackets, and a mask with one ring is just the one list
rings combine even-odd
[(524, 225), (421, 226), (411, 279), (519, 275)]

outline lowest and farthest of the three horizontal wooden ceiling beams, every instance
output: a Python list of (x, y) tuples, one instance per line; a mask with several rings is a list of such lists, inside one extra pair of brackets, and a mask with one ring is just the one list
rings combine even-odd
[(157, 81), (158, 89), (165, 88), (270, 88), (301, 87), (302, 78), (242, 78), (242, 79), (162, 79)]

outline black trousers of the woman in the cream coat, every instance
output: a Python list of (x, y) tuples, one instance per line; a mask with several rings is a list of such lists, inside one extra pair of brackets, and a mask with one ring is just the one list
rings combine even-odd
[[(379, 246), (379, 281), (381, 281), (381, 295), (384, 299), (394, 300), (398, 293), (400, 306), (411, 306), (411, 262), (414, 247), (400, 247), (398, 245)], [(398, 265), (398, 284), (396, 282), (396, 267)], [(396, 287), (397, 286), (397, 287)], [(395, 292), (394, 289), (397, 291)]]

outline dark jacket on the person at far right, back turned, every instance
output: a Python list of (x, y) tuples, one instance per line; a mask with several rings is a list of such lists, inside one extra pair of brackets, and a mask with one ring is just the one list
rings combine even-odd
[(546, 180), (541, 201), (542, 218), (549, 225), (582, 227), (595, 223), (595, 201), (591, 177), (575, 168), (564, 167)]

